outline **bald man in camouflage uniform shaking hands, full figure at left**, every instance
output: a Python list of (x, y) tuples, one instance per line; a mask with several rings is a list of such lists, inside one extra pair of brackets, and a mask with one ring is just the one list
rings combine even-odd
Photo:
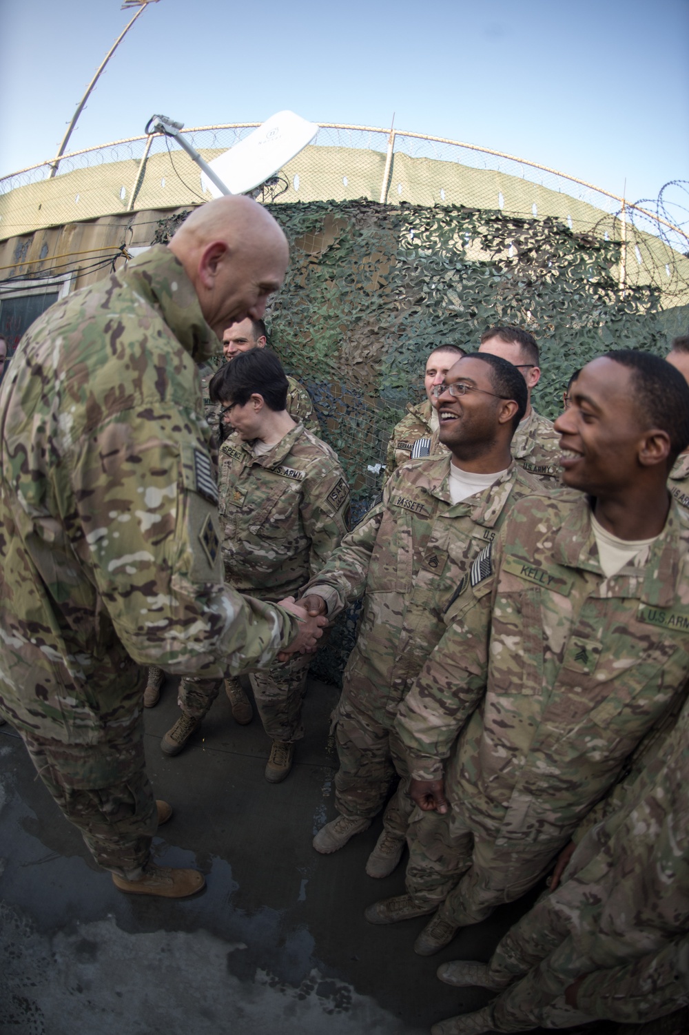
[(222, 678), (320, 635), (223, 584), (197, 372), (230, 323), (263, 316), (288, 258), (260, 205), (210, 202), (53, 305), (0, 391), (0, 714), (123, 891), (204, 884), (150, 859), (140, 667)]

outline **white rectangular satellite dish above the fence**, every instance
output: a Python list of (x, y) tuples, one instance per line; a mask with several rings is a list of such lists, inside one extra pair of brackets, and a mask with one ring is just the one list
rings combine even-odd
[[(294, 112), (277, 112), (208, 165), (231, 194), (246, 194), (299, 154), (318, 131), (316, 122), (307, 122)], [(222, 197), (222, 191), (205, 173), (201, 174), (201, 182), (213, 198)]]

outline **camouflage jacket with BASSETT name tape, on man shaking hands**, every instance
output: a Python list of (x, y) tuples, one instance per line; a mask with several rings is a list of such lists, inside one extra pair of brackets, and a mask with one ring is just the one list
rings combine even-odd
[(512, 463), (489, 489), (453, 504), (449, 471), (449, 454), (402, 465), (387, 482), (383, 502), (304, 591), (325, 598), (329, 617), (365, 593), (344, 692), (390, 723), (445, 632), (445, 610), (473, 561), (515, 500), (542, 492)]

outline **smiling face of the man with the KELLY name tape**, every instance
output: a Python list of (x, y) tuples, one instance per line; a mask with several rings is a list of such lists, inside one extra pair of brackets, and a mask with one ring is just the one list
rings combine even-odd
[(602, 356), (588, 363), (555, 422), (566, 485), (591, 496), (617, 494), (634, 482), (646, 432), (632, 372)]

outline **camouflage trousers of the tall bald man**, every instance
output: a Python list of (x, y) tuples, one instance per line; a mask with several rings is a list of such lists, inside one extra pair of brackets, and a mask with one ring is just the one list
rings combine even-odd
[(140, 718), (128, 734), (99, 744), (22, 734), (38, 775), (95, 861), (129, 878), (148, 861), (158, 822), (143, 733)]

